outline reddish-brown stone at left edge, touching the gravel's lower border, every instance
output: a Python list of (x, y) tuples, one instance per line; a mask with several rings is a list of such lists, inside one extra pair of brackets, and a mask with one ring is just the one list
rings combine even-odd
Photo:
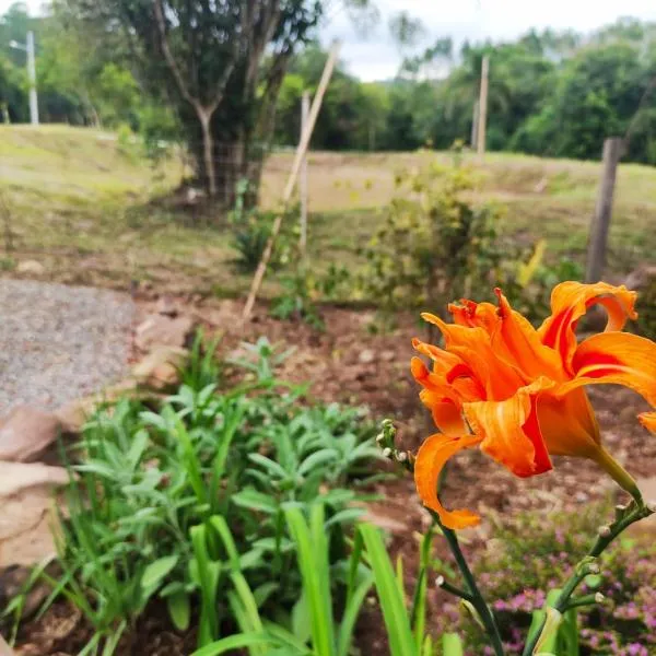
[(62, 425), (54, 413), (19, 406), (9, 413), (0, 427), (0, 460), (37, 460), (61, 431)]

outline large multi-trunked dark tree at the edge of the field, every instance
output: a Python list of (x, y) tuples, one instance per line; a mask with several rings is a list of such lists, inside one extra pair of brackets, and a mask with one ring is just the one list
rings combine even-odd
[(137, 79), (175, 109), (211, 197), (232, 202), (242, 177), (257, 187), (288, 63), (312, 37), (326, 2), (62, 2), (80, 22), (124, 35)]

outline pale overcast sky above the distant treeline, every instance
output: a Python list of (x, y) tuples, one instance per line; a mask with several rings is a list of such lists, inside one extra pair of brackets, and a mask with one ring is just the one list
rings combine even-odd
[[(102, 0), (98, 0), (102, 1)], [(13, 0), (0, 0), (0, 13)], [(452, 36), (456, 44), (465, 39), (502, 39), (518, 36), (530, 27), (572, 27), (589, 32), (620, 16), (656, 21), (656, 0), (374, 0), (380, 10), (378, 25), (363, 37), (352, 24), (342, 3), (333, 0), (336, 9), (321, 31), (328, 43), (342, 40), (341, 58), (354, 75), (363, 80), (393, 77), (400, 54), (389, 38), (387, 21), (401, 9), (420, 17), (426, 42)], [(28, 0), (37, 11), (43, 0)]]

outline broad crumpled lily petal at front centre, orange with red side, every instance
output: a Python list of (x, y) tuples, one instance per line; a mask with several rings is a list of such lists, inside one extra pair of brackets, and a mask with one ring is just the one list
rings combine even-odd
[(479, 401), (462, 407), (475, 434), (483, 440), (481, 450), (515, 476), (526, 478), (552, 468), (536, 403), (539, 394), (553, 386), (552, 380), (542, 377), (504, 401)]

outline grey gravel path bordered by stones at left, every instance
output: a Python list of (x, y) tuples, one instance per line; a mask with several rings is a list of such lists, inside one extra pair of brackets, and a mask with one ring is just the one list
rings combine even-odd
[(93, 288), (0, 280), (0, 414), (55, 409), (128, 370), (132, 301)]

